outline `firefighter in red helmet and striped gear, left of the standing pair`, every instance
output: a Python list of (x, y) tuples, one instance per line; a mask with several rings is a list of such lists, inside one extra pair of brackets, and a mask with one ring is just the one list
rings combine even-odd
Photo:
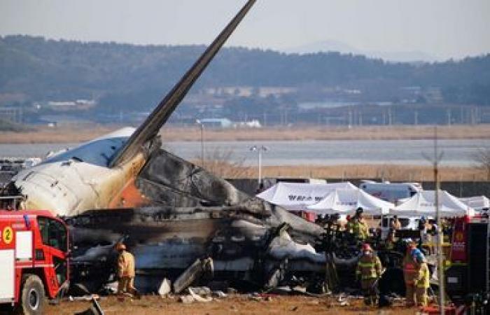
[(372, 251), (370, 244), (363, 244), (363, 255), (360, 257), (356, 278), (360, 280), (360, 288), (363, 290), (366, 305), (375, 304), (377, 300), (376, 285), (381, 276), (381, 260)]

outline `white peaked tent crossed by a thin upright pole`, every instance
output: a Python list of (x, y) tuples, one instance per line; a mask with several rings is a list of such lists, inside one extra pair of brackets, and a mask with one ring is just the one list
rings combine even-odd
[[(441, 216), (465, 216), (472, 215), (473, 209), (463, 204), (458, 198), (447, 193), (445, 190), (439, 190), (439, 208)], [(422, 190), (413, 195), (407, 202), (390, 210), (390, 214), (399, 216), (436, 216), (435, 211), (435, 191)]]

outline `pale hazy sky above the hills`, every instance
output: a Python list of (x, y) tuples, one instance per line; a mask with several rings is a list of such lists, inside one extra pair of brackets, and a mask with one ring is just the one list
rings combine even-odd
[[(0, 34), (208, 44), (244, 0), (0, 0)], [(258, 0), (228, 45), (335, 40), (442, 58), (490, 52), (490, 0)]]

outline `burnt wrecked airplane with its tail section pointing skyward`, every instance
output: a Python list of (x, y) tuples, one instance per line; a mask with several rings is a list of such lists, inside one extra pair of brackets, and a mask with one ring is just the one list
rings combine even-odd
[[(355, 253), (340, 259), (310, 245), (324, 232), (318, 225), (161, 148), (160, 128), (254, 3), (241, 8), (136, 130), (52, 155), (20, 172), (3, 192), (23, 195), (21, 208), (66, 218), (72, 283), (94, 291), (111, 281), (113, 245), (121, 239), (136, 255), (137, 286), (144, 291), (158, 288), (163, 276), (175, 280), (176, 292), (199, 279), (255, 287), (284, 279), (314, 284), (324, 278), (327, 262), (355, 264)], [(179, 277), (183, 272), (189, 276)]]

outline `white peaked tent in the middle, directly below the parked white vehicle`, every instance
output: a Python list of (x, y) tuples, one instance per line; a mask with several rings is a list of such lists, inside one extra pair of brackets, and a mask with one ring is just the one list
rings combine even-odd
[(317, 214), (351, 214), (358, 207), (362, 207), (365, 214), (387, 214), (388, 210), (395, 207), (391, 202), (386, 202), (377, 197), (356, 189), (337, 188), (332, 190), (321, 202), (308, 207)]

